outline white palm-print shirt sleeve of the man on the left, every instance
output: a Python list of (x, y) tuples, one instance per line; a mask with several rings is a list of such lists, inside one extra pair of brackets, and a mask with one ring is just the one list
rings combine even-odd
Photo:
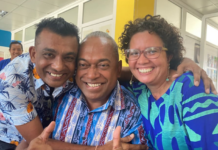
[[(29, 77), (28, 65), (25, 60), (14, 59), (10, 66), (0, 72), (0, 111), (5, 122), (10, 125), (23, 125), (36, 116), (36, 110), (31, 103), (35, 97), (34, 87)], [(22, 66), (25, 66), (22, 67)]]

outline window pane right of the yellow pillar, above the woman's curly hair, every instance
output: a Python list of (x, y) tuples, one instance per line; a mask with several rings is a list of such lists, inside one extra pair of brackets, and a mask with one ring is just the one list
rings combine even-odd
[(168, 0), (158, 0), (157, 1), (157, 15), (165, 18), (169, 23), (172, 23), (177, 28), (181, 26), (181, 12), (182, 9), (169, 2)]

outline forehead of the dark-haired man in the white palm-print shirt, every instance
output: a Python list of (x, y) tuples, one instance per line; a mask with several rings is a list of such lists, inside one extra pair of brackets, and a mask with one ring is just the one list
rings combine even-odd
[(61, 51), (77, 51), (78, 41), (75, 36), (61, 36), (50, 30), (43, 29), (37, 36), (35, 42), (36, 49), (53, 49)]

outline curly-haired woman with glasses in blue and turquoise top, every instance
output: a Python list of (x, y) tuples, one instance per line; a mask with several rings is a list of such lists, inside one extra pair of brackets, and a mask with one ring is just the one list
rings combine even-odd
[(125, 25), (121, 49), (133, 76), (149, 140), (158, 150), (218, 149), (218, 97), (206, 94), (193, 75), (172, 76), (183, 59), (179, 30), (160, 16), (147, 15)]

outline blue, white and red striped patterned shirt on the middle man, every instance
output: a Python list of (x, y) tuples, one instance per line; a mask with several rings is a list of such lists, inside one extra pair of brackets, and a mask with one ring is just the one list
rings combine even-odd
[(117, 126), (121, 137), (135, 134), (133, 144), (146, 144), (141, 112), (136, 98), (117, 82), (108, 101), (92, 111), (81, 90), (74, 87), (54, 103), (56, 126), (53, 139), (79, 145), (104, 145), (113, 139)]

